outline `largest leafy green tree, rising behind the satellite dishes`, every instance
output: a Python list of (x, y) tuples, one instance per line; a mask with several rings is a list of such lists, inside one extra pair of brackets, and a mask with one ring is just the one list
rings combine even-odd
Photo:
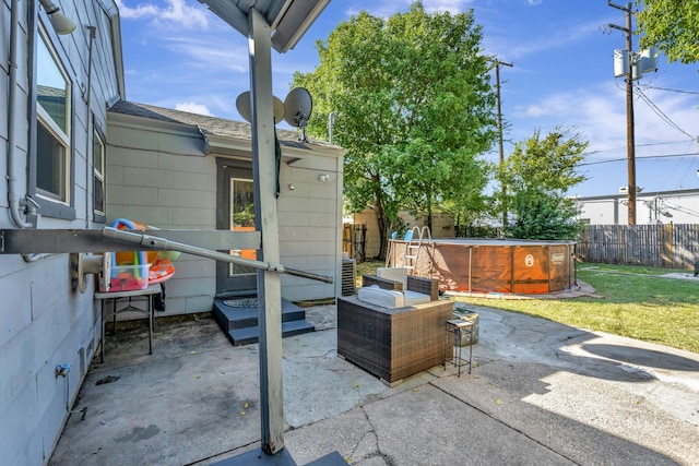
[(376, 212), (379, 256), (400, 208), (426, 215), (460, 192), (485, 186), (485, 153), (495, 140), (488, 63), (479, 55), (473, 11), (425, 12), (422, 2), (388, 20), (360, 12), (317, 43), (320, 63), (294, 85), (313, 96), (310, 134), (347, 148), (345, 199)]

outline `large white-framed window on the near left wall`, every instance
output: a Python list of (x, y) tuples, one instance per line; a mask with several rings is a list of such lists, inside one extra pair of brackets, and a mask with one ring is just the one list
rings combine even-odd
[(39, 28), (36, 46), (36, 192), (71, 203), (71, 83)]

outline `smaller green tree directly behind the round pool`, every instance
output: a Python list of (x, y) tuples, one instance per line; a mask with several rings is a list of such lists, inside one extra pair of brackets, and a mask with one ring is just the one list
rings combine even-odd
[[(556, 128), (545, 138), (537, 130), (514, 146), (500, 181), (507, 187), (500, 208), (508, 212), (506, 235), (519, 239), (570, 239), (578, 232), (570, 188), (585, 180), (576, 171), (588, 142)], [(502, 194), (498, 194), (502, 195)]]

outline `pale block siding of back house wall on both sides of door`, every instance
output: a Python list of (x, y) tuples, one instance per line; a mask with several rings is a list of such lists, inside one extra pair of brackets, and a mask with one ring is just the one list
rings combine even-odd
[[(186, 121), (211, 117), (133, 104)], [(198, 127), (109, 111), (107, 147), (108, 223), (123, 217), (161, 229), (216, 228), (215, 148)], [(214, 123), (225, 123), (215, 119)], [(232, 122), (233, 123), (233, 122)], [(240, 124), (240, 123), (235, 123)], [(250, 159), (251, 142), (232, 139), (237, 158)], [(277, 201), (280, 259), (285, 266), (333, 278), (342, 264), (342, 152), (283, 146), (281, 195)], [(321, 182), (320, 175), (330, 179)], [(294, 186), (294, 190), (289, 189)], [(166, 283), (165, 314), (212, 310), (216, 292), (215, 262), (190, 254), (175, 261), (175, 275)], [(310, 300), (339, 296), (341, 283), (323, 284), (282, 276), (282, 296)]]

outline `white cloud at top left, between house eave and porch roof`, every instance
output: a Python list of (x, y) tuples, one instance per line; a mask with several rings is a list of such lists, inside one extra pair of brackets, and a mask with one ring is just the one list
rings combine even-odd
[(156, 24), (175, 23), (187, 28), (209, 26), (206, 11), (191, 7), (185, 0), (165, 0), (165, 8), (152, 3), (140, 3), (133, 8), (127, 7), (123, 0), (116, 0), (119, 14), (123, 19), (151, 20)]

